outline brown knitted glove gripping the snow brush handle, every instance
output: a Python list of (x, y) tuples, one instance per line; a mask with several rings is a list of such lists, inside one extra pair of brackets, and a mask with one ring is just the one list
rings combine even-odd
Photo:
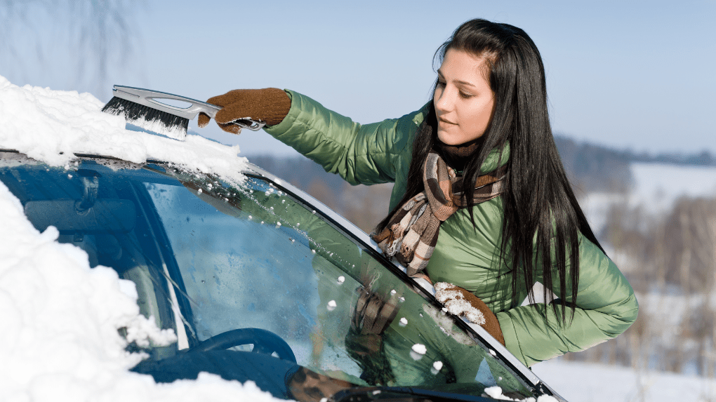
[[(234, 89), (218, 97), (211, 97), (206, 102), (223, 107), (214, 119), (221, 129), (233, 134), (241, 132), (241, 127), (227, 124), (228, 122), (251, 117), (272, 126), (279, 124), (291, 109), (291, 98), (283, 89), (278, 88)], [(206, 127), (209, 120), (208, 115), (200, 113), (199, 127)]]

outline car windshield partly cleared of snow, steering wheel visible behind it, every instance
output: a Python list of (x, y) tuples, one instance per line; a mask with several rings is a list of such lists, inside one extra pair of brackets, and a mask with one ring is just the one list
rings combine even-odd
[(0, 155), (0, 180), (34, 226), (57, 227), (90, 265), (131, 280), (141, 313), (175, 330), (173, 345), (130, 345), (149, 356), (135, 371), (157, 381), (208, 371), (307, 401), (354, 386), (533, 396), (372, 247), (280, 182)]

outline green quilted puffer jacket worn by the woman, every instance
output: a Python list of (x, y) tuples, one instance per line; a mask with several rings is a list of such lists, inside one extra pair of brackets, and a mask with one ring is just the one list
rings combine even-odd
[[(289, 114), (266, 132), (351, 184), (395, 182), (392, 210), (405, 193), (412, 140), (425, 107), (399, 119), (361, 125), (309, 97), (286, 92), (291, 97)], [(495, 150), (481, 170), (494, 170), (498, 160)], [(476, 232), (468, 210), (458, 210), (440, 225), (427, 274), (434, 282), (453, 283), (484, 300), (498, 317), (506, 347), (527, 366), (615, 338), (637, 319), (637, 299), (631, 285), (586, 237), (580, 237), (579, 290), (571, 324), (559, 324), (552, 308), (544, 303), (513, 303), (510, 270), (503, 263), (495, 263), (503, 220), (501, 197), (476, 205), (473, 214)], [(559, 295), (558, 289), (553, 292), (571, 300), (570, 294)], [(526, 295), (526, 286), (521, 286), (518, 300)], [(535, 297), (541, 298), (541, 293)]]

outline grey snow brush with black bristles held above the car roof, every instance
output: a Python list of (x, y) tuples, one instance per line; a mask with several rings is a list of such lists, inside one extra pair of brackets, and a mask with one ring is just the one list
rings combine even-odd
[[(112, 99), (102, 107), (102, 112), (124, 116), (130, 124), (142, 127), (152, 132), (163, 134), (167, 137), (183, 141), (189, 127), (189, 120), (196, 117), (199, 112), (204, 112), (212, 119), (216, 112), (223, 109), (216, 104), (201, 102), (188, 97), (181, 97), (166, 92), (152, 91), (134, 87), (115, 85), (112, 87)], [(162, 102), (178, 101), (188, 103), (188, 107), (177, 107)], [(236, 124), (242, 129), (258, 131), (265, 122), (242, 117), (228, 124)]]

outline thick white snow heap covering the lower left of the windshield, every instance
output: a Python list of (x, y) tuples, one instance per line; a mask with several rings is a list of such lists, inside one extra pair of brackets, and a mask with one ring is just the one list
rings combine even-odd
[(158, 385), (127, 371), (142, 356), (125, 352), (119, 328), (137, 343), (175, 341), (140, 315), (134, 283), (90, 269), (54, 227), (39, 233), (1, 182), (0, 222), (0, 401), (274, 401), (253, 383)]

